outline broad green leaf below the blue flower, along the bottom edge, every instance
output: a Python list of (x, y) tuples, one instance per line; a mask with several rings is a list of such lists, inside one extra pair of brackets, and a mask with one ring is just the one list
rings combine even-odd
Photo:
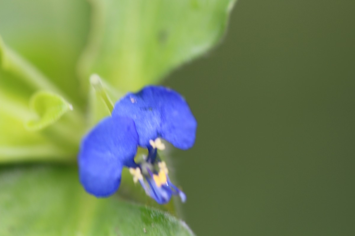
[(1, 236), (193, 235), (167, 212), (88, 195), (75, 167), (2, 168), (0, 189)]

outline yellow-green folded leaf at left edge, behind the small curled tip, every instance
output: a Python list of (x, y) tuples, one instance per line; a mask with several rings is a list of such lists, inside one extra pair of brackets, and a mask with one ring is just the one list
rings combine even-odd
[[(74, 110), (50, 129), (34, 132), (58, 121), (70, 108), (63, 98), (53, 101), (53, 98), (46, 97), (41, 104), (40, 96), (35, 96), (32, 109), (41, 119), (36, 117), (37, 120), (28, 122), (33, 117), (28, 103), (38, 89), (62, 94), (31, 63), (7, 47), (0, 37), (0, 163), (75, 160), (84, 133), (82, 114)], [(60, 104), (52, 104), (55, 108), (50, 108), (50, 103), (55, 101)], [(48, 109), (44, 111), (46, 106)]]

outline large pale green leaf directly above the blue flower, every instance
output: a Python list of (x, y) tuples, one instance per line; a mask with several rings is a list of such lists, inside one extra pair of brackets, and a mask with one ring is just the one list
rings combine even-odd
[(157, 83), (215, 45), (235, 0), (91, 0), (89, 43), (79, 64), (124, 92)]

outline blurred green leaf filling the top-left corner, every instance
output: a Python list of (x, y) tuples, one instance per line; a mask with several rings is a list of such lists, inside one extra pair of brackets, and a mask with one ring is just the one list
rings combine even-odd
[(81, 103), (76, 63), (87, 41), (89, 13), (86, 0), (1, 0), (0, 34), (65, 97)]

